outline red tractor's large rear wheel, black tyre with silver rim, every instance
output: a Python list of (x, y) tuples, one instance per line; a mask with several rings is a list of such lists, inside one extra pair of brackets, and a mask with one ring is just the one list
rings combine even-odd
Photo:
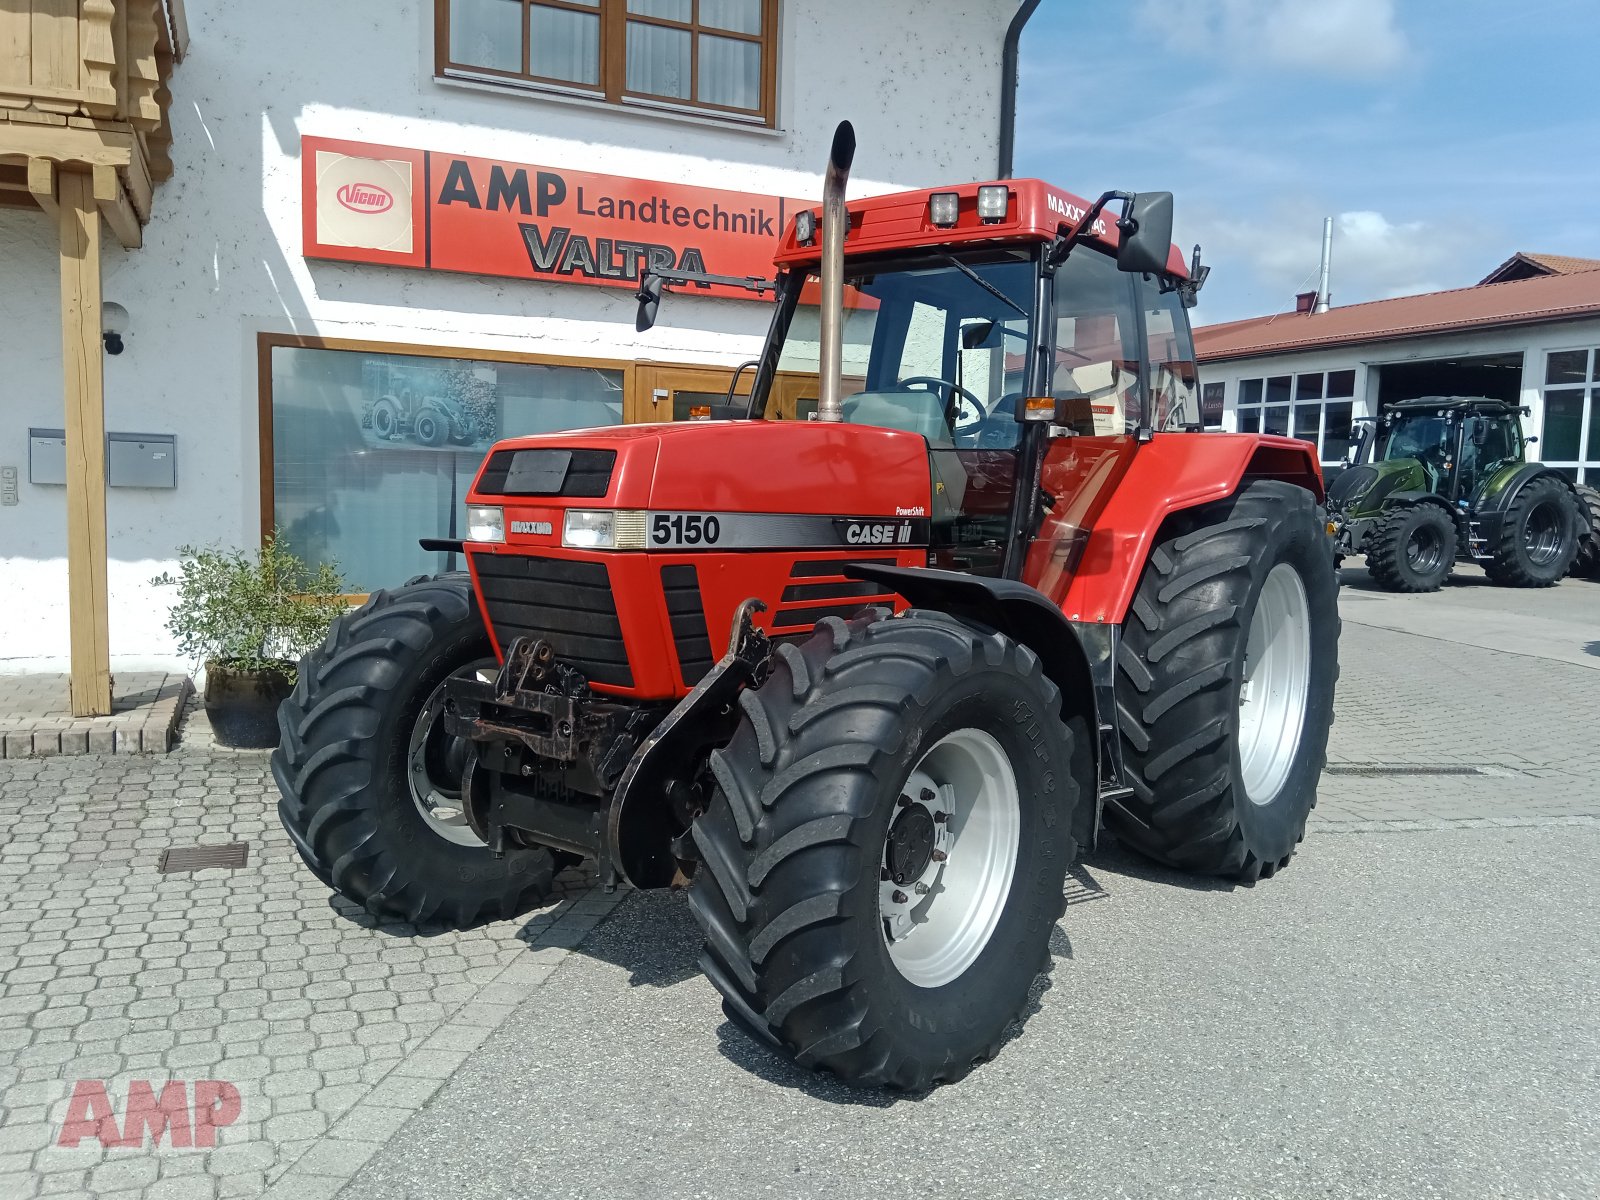
[(1261, 480), (1163, 526), (1117, 651), (1118, 842), (1240, 883), (1288, 866), (1333, 725), (1338, 595), (1304, 488)]

